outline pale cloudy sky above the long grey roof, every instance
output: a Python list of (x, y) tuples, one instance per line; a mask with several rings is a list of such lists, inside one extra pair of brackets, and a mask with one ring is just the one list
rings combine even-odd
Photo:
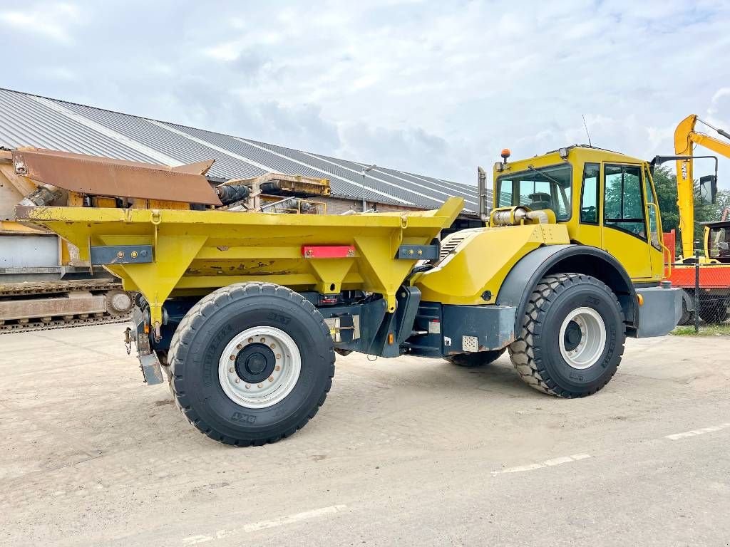
[(581, 115), (643, 158), (692, 113), (730, 131), (728, 28), (727, 0), (4, 0), (0, 87), (472, 182)]

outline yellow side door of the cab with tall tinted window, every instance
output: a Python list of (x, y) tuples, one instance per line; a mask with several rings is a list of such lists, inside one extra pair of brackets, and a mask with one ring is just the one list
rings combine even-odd
[(653, 247), (647, 236), (642, 166), (604, 163), (602, 187), (603, 249), (623, 264), (631, 279), (650, 279)]

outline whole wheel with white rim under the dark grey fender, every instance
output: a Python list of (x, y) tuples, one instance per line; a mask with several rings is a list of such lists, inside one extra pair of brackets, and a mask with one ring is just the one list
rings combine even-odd
[(615, 294), (583, 274), (553, 274), (537, 284), (510, 357), (531, 387), (585, 397), (610, 381), (626, 334)]

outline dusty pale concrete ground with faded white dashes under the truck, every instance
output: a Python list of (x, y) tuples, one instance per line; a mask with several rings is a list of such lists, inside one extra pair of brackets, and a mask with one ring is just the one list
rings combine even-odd
[(122, 330), (0, 336), (0, 545), (730, 545), (730, 338), (630, 340), (582, 400), (339, 357), (307, 427), (234, 449)]

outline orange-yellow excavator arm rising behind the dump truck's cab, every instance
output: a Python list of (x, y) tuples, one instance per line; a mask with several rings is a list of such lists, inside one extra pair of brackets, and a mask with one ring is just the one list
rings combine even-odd
[[(682, 120), (675, 129), (675, 154), (692, 155), (694, 145), (699, 144), (712, 152), (730, 158), (730, 143), (715, 139), (712, 136), (704, 135), (694, 131), (694, 126), (699, 118), (696, 114), (689, 115)], [(702, 122), (702, 120), (699, 120)], [(730, 139), (730, 133), (712, 127), (720, 135)], [(694, 255), (694, 177), (693, 160), (677, 160), (677, 206), (680, 212), (680, 233), (682, 235), (682, 256), (691, 257)]]

